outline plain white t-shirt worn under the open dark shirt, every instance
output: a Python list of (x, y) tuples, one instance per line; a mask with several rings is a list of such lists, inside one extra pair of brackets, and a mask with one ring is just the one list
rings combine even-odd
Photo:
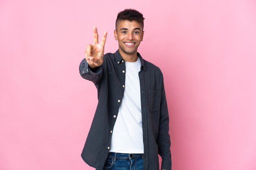
[(135, 62), (126, 61), (125, 65), (124, 97), (112, 131), (109, 152), (144, 153), (138, 74), (141, 67), (140, 59)]

